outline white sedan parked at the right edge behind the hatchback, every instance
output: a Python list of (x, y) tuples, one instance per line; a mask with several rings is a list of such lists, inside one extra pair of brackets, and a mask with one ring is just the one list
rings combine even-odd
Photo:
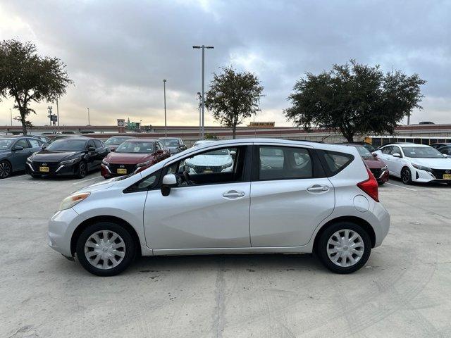
[(432, 146), (388, 144), (373, 154), (387, 164), (390, 175), (400, 177), (404, 184), (431, 181), (451, 183), (451, 158)]

